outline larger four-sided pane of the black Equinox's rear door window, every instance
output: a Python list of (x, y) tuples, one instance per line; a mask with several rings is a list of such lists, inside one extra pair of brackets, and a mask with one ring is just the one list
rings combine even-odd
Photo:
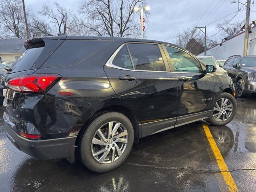
[(127, 44), (135, 70), (165, 71), (164, 61), (156, 44)]

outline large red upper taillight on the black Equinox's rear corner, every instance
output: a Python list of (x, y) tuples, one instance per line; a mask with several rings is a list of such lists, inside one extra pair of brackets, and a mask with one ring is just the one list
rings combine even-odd
[(11, 79), (8, 82), (8, 88), (16, 92), (44, 94), (46, 90), (53, 86), (60, 78), (61, 77), (57, 74), (24, 75)]

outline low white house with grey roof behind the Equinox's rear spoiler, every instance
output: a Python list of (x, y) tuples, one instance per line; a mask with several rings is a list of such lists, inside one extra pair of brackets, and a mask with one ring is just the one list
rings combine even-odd
[(23, 52), (26, 38), (0, 39), (0, 61), (15, 61)]

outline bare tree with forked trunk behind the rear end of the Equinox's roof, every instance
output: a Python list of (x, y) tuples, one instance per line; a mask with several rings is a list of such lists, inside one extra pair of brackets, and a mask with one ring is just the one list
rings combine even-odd
[[(74, 23), (74, 17), (72, 15), (72, 10), (60, 6), (57, 2), (54, 2), (54, 9), (50, 6), (44, 4), (42, 10), (39, 12), (42, 16), (47, 16), (50, 22), (57, 25), (58, 33), (67, 33), (68, 28)], [(34, 20), (35, 21), (35, 20)], [(37, 28), (40, 31), (44, 31), (45, 34), (50, 35), (50, 27), (47, 22), (37, 19)]]

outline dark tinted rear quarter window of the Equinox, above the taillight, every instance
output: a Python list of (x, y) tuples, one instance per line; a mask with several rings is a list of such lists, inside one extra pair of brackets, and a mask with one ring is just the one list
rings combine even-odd
[(110, 40), (65, 40), (42, 65), (42, 68), (76, 64), (110, 42)]

